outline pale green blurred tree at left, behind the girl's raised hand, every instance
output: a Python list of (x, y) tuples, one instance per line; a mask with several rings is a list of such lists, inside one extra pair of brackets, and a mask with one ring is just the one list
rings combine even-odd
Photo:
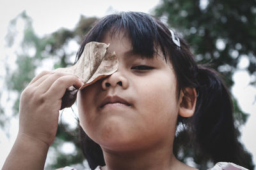
[[(24, 22), (24, 36), (20, 43), (20, 48), (15, 50), (17, 67), (13, 71), (6, 70), (6, 72), (8, 71), (8, 76), (6, 76), (8, 90), (17, 92), (18, 94), (13, 106), (13, 115), (19, 113), (19, 96), (22, 90), (38, 74), (38, 70), (67, 67), (74, 63), (76, 51), (70, 50), (68, 45), (74, 42), (76, 45), (80, 44), (83, 36), (97, 18), (86, 18), (82, 16), (74, 30), (61, 28), (52, 34), (40, 38), (33, 30), (31, 18), (24, 11), (10, 22), (9, 31), (6, 36), (6, 42), (10, 48), (15, 43), (15, 40), (17, 40), (16, 36), (19, 32), (17, 22), (20, 22), (20, 20)], [(77, 45), (76, 50), (78, 50), (78, 47)], [(45, 65), (47, 68), (45, 68)], [(1, 108), (0, 111), (3, 112)], [(4, 118), (4, 114), (1, 113), (1, 117)], [(0, 121), (0, 125), (3, 127), (4, 122)], [(46, 169), (55, 169), (72, 164), (83, 166), (83, 153), (79, 149), (79, 139), (75, 138), (75, 136), (78, 136), (77, 133), (78, 130), (76, 128), (72, 129), (65, 122), (61, 122), (54, 144), (50, 148), (50, 151), (53, 150), (52, 153), (55, 155), (55, 160), (51, 160), (51, 165), (45, 167)], [(73, 153), (69, 153), (68, 155), (61, 149), (61, 146), (67, 142), (73, 143), (75, 146)]]

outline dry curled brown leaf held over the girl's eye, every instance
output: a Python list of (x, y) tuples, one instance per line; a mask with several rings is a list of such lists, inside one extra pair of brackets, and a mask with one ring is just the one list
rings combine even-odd
[[(90, 42), (84, 46), (84, 51), (74, 66), (58, 68), (56, 71), (76, 74), (85, 83), (79, 89), (95, 83), (118, 69), (118, 60), (115, 52), (108, 52), (108, 46), (105, 43)], [(61, 110), (68, 108), (76, 101), (77, 90), (68, 88), (62, 97)]]

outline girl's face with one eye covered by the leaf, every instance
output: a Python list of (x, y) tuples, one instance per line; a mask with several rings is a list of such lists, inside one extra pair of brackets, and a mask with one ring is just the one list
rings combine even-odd
[(124, 152), (172, 145), (179, 111), (176, 79), (163, 56), (142, 59), (123, 34), (103, 43), (116, 52), (118, 70), (79, 91), (77, 106), (84, 131), (102, 148)]

